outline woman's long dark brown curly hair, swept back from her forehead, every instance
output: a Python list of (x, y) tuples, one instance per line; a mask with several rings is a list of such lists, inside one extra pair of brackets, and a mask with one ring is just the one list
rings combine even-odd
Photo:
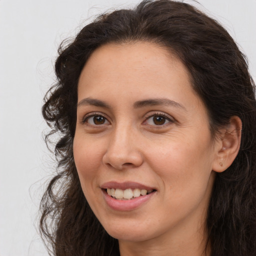
[(134, 9), (98, 16), (59, 46), (57, 82), (44, 97), (42, 114), (60, 134), (57, 172), (42, 197), (40, 232), (56, 256), (119, 255), (118, 241), (103, 229), (83, 195), (73, 159), (77, 83), (90, 54), (100, 45), (149, 41), (174, 53), (190, 73), (204, 102), (214, 136), (237, 115), (241, 145), (235, 160), (216, 173), (207, 212), (211, 256), (256, 254), (256, 100), (246, 57), (217, 21), (172, 0), (143, 0)]

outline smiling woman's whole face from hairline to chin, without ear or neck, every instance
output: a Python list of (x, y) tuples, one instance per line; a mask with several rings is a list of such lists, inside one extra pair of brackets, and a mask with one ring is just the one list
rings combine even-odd
[(196, 234), (216, 151), (206, 108), (176, 57), (148, 42), (92, 53), (78, 82), (73, 153), (83, 193), (110, 235)]

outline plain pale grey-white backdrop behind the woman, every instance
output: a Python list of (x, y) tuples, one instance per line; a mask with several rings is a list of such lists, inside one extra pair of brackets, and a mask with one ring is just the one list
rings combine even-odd
[[(58, 44), (93, 15), (137, 2), (0, 0), (0, 256), (47, 255), (36, 231), (37, 211), (55, 162), (43, 141), (47, 127), (40, 109), (54, 81)], [(185, 2), (226, 27), (255, 80), (256, 0)]]

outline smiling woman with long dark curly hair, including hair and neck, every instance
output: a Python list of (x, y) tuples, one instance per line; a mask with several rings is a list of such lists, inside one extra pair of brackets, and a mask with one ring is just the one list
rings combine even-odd
[(255, 86), (223, 27), (142, 1), (86, 25), (55, 70), (54, 255), (255, 255)]

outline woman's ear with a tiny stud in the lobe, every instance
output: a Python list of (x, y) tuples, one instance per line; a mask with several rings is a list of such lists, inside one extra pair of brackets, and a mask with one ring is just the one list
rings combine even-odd
[(234, 115), (229, 123), (219, 130), (217, 141), (215, 141), (216, 155), (212, 170), (222, 172), (232, 164), (240, 148), (241, 129), (241, 119)]

